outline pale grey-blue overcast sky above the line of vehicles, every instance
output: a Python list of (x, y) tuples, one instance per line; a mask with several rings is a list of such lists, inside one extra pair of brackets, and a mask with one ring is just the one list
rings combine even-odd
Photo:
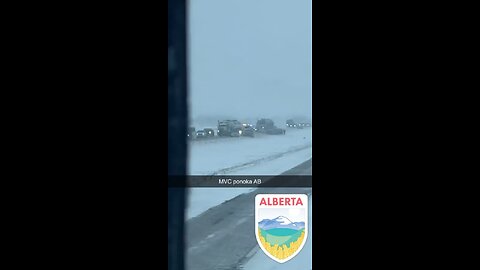
[(189, 2), (192, 119), (311, 117), (311, 0)]

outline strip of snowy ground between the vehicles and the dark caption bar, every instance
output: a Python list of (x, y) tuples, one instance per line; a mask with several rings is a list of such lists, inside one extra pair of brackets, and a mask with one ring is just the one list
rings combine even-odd
[[(311, 145), (310, 128), (287, 129), (285, 135), (257, 134), (255, 138), (194, 140), (189, 144), (188, 172), (189, 175), (276, 175), (282, 171), (282, 167), (286, 171), (300, 163), (297, 162), (298, 156), (289, 154), (311, 149)], [(302, 153), (308, 155), (308, 150)], [(272, 163), (281, 157), (284, 158), (282, 161)], [(267, 162), (271, 165), (258, 167)]]

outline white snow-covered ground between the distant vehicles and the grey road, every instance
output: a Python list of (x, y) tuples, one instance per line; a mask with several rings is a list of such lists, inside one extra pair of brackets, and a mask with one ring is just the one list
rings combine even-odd
[[(279, 175), (312, 157), (311, 129), (287, 130), (286, 135), (255, 138), (221, 138), (194, 141), (190, 174)], [(227, 153), (235, 153), (228, 155)], [(190, 188), (186, 218), (253, 188)]]

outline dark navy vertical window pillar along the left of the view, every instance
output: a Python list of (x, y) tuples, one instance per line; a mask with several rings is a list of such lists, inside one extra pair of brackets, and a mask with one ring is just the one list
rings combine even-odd
[[(168, 0), (168, 181), (187, 168), (186, 0)], [(159, 101), (160, 102), (160, 101)], [(161, 125), (161, 123), (157, 123)], [(160, 174), (159, 174), (160, 175)], [(159, 179), (162, 181), (163, 179)], [(184, 181), (176, 177), (175, 181)], [(185, 189), (168, 189), (168, 269), (184, 269)], [(161, 213), (157, 213), (161, 215)], [(161, 243), (159, 243), (161, 245)]]

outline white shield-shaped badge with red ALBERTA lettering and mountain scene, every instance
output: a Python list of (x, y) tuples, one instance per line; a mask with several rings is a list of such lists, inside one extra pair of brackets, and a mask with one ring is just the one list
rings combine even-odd
[(284, 263), (295, 257), (308, 236), (308, 197), (305, 194), (255, 196), (255, 235), (260, 248)]

